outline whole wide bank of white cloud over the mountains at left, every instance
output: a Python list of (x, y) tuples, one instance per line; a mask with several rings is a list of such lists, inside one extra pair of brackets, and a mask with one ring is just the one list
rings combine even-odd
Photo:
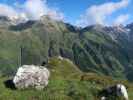
[(0, 4), (0, 16), (19, 21), (38, 20), (43, 15), (49, 15), (55, 20), (64, 20), (64, 15), (59, 10), (48, 7), (47, 0), (27, 0), (24, 4), (14, 4), (15, 7)]

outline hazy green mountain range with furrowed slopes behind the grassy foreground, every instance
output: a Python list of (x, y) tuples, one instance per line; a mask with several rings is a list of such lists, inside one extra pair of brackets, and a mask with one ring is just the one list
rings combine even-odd
[(22, 64), (40, 64), (61, 55), (82, 71), (132, 80), (132, 29), (132, 24), (92, 25), (81, 29), (48, 16), (14, 25), (1, 17), (0, 69), (4, 74), (12, 74), (21, 59)]

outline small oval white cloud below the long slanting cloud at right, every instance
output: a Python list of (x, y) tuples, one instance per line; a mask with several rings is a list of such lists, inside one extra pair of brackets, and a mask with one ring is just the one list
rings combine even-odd
[(116, 18), (116, 20), (114, 21), (114, 25), (120, 25), (120, 24), (124, 24), (127, 20), (129, 19), (129, 15), (125, 14), (125, 15), (120, 15)]

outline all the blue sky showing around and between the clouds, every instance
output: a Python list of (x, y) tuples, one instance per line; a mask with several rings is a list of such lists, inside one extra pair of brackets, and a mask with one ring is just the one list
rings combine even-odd
[[(28, 1), (28, 0), (0, 0), (0, 3), (4, 3), (4, 4), (8, 4), (10, 6), (13, 6), (16, 2), (21, 5), (26, 1)], [(86, 14), (86, 11), (87, 11), (87, 9), (91, 8), (92, 6), (97, 5), (99, 7), (99, 5), (103, 5), (105, 3), (110, 3), (110, 2), (118, 3), (118, 2), (122, 2), (122, 1), (125, 1), (125, 0), (47, 0), (47, 6), (49, 6), (52, 9), (54, 9), (54, 8), (59, 9), (59, 11), (62, 12), (63, 15), (65, 16), (65, 20), (67, 22), (76, 24), (76, 22), (81, 19), (82, 20), (86, 19), (85, 21), (89, 20), (89, 18), (86, 18), (87, 15), (89, 17), (89, 14)], [(122, 24), (127, 24), (130, 22), (133, 22), (133, 17), (132, 17), (133, 16), (133, 13), (132, 13), (133, 6), (132, 5), (133, 5), (133, 0), (130, 0), (126, 7), (121, 7), (118, 10), (113, 11), (108, 15), (104, 14), (104, 17), (105, 16), (106, 17), (105, 17), (105, 19), (102, 19), (102, 21), (104, 20), (106, 22), (106, 24), (110, 25), (117, 17), (125, 16), (125, 17), (120, 17), (120, 18), (126, 18), (126, 21), (123, 21)], [(88, 10), (88, 12), (89, 11), (90, 10)], [(81, 18), (81, 16), (84, 16), (84, 17)], [(88, 23), (89, 23), (89, 21), (88, 21)], [(90, 24), (95, 24), (95, 21)]]

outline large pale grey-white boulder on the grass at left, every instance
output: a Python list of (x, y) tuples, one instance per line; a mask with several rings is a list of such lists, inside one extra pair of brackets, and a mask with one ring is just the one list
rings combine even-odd
[(18, 89), (32, 87), (41, 90), (48, 85), (49, 76), (49, 70), (43, 66), (23, 65), (18, 69), (13, 83)]

